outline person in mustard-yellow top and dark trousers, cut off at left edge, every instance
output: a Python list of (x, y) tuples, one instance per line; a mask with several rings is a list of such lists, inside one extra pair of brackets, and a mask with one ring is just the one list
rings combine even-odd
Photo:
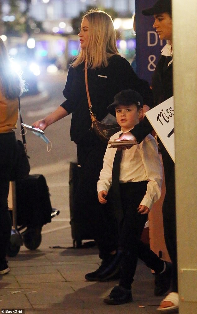
[(8, 192), (10, 174), (17, 155), (13, 130), (18, 120), (18, 97), (21, 93), (21, 79), (12, 70), (8, 52), (0, 38), (0, 275), (10, 271), (5, 258), (12, 228)]

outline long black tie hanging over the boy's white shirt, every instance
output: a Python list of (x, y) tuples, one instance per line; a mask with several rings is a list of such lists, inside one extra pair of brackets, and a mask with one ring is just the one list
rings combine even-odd
[(114, 163), (112, 168), (112, 199), (114, 205), (114, 214), (119, 224), (121, 223), (124, 215), (122, 210), (120, 198), (120, 162), (122, 157), (122, 149), (116, 150)]

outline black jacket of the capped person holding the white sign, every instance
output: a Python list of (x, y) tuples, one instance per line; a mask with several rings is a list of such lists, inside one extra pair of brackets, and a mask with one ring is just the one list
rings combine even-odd
[[(152, 77), (154, 106), (173, 96), (173, 62), (163, 71), (165, 59), (166, 57), (163, 55), (160, 57)], [(151, 106), (149, 107), (152, 108)], [(152, 125), (145, 116), (144, 120), (137, 124), (130, 132), (140, 143), (152, 130)]]

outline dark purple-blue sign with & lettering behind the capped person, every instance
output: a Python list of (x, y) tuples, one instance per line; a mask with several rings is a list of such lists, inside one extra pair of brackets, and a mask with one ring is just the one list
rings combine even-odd
[(152, 74), (161, 55), (165, 40), (160, 40), (153, 28), (154, 17), (141, 11), (151, 8), (157, 0), (136, 0), (136, 63), (137, 75), (151, 85)]

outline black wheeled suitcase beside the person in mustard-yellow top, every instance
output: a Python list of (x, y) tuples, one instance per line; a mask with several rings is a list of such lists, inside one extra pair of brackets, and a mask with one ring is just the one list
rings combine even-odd
[(8, 207), (13, 225), (7, 251), (10, 257), (16, 256), (23, 244), (29, 250), (37, 249), (42, 240), (42, 226), (60, 213), (51, 208), (43, 175), (29, 175), (24, 180), (10, 182)]

